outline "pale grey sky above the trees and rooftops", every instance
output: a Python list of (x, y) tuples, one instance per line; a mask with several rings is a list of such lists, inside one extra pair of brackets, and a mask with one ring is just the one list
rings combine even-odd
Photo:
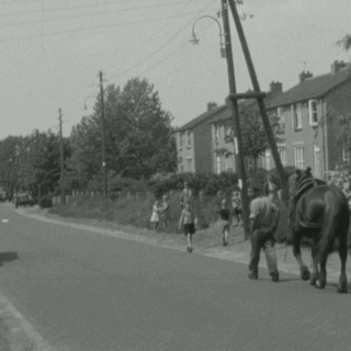
[[(58, 132), (59, 109), (69, 136), (92, 111), (99, 71), (104, 84), (148, 79), (174, 126), (208, 102), (223, 104), (229, 88), (219, 29), (202, 18), (222, 24), (219, 10), (220, 0), (0, 0), (0, 139)], [(349, 0), (245, 0), (238, 11), (262, 91), (271, 81), (285, 91), (304, 69), (318, 76), (350, 60), (336, 45), (351, 33)], [(245, 92), (252, 86), (229, 18), (237, 91)], [(189, 42), (193, 25), (199, 45)]]

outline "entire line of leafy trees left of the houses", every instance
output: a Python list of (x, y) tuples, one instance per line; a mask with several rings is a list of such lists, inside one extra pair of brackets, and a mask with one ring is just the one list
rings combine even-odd
[[(100, 190), (102, 182), (102, 104), (82, 116), (64, 137), (65, 189)], [(134, 78), (104, 91), (105, 155), (109, 179), (149, 178), (173, 172), (177, 150), (173, 116), (162, 109), (158, 91), (146, 79)], [(10, 194), (29, 191), (34, 197), (60, 190), (60, 137), (34, 129), (27, 136), (0, 140), (0, 180)], [(113, 181), (112, 181), (113, 183)]]

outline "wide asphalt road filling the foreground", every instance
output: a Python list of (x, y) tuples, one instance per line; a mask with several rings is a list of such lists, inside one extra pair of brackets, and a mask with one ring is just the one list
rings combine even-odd
[(57, 350), (351, 349), (351, 295), (332, 284), (319, 291), (288, 274), (272, 283), (265, 270), (249, 281), (241, 263), (4, 205), (0, 220), (0, 288)]

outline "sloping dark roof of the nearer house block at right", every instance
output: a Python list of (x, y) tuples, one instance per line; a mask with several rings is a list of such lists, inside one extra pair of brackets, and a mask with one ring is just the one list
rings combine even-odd
[(269, 109), (324, 97), (335, 88), (343, 84), (350, 78), (351, 69), (348, 67), (340, 69), (336, 73), (327, 73), (306, 79), (304, 82), (273, 99), (269, 104)]

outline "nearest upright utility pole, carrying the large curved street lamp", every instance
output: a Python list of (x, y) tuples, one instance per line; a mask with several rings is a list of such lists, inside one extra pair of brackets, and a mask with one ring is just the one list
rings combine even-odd
[[(224, 41), (225, 41), (227, 69), (228, 69), (229, 93), (231, 97), (231, 94), (237, 93), (237, 90), (236, 90), (235, 70), (234, 70), (234, 61), (233, 61), (227, 0), (222, 0), (222, 18), (223, 18)], [(230, 103), (231, 114), (234, 118), (235, 166), (239, 176), (239, 186), (241, 189), (244, 233), (245, 233), (245, 239), (248, 239), (249, 237), (249, 201), (247, 195), (247, 174), (245, 170), (239, 107), (238, 107), (237, 99), (229, 99), (229, 103)]]

